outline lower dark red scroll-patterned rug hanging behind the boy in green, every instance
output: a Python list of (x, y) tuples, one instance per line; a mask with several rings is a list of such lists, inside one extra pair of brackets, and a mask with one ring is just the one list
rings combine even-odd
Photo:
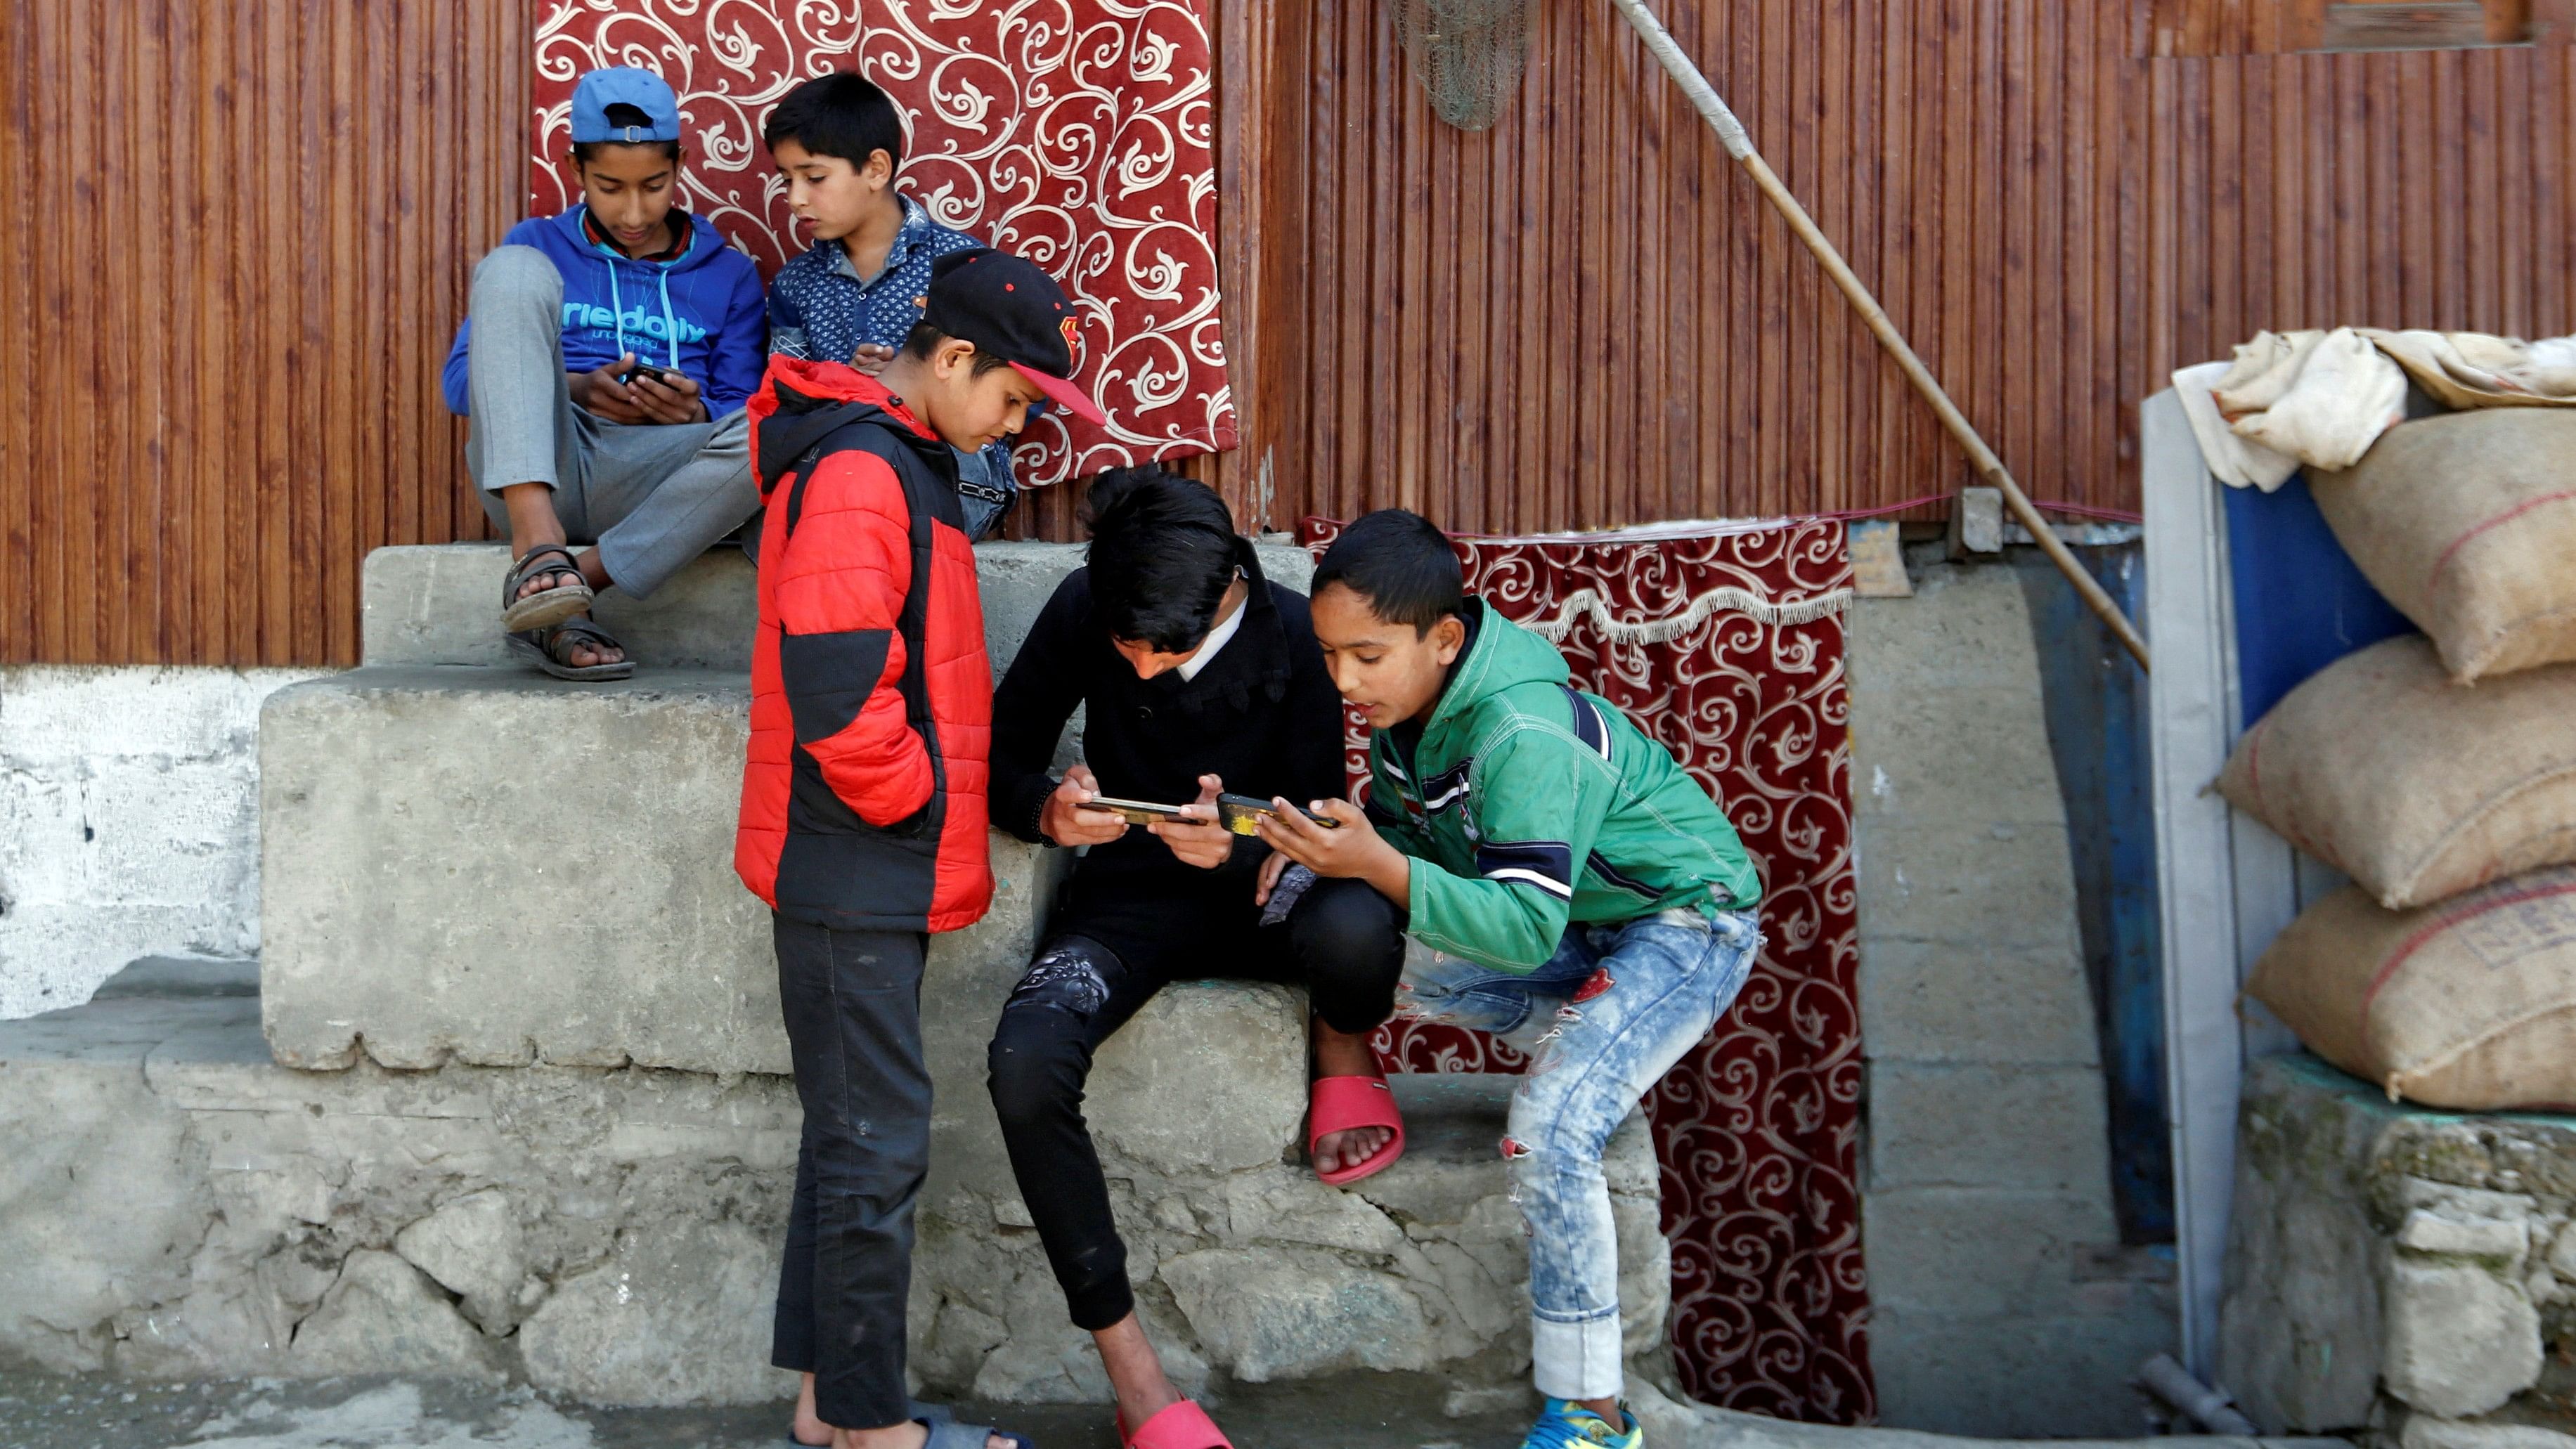
[[(1306, 520), (1303, 540), (1340, 525)], [(1558, 643), (1726, 806), (1770, 945), (1649, 1099), (1692, 1395), (1814, 1423), (1875, 1413), (1860, 1266), (1860, 947), (1844, 525), (1461, 538), (1468, 589)], [(1352, 723), (1352, 780), (1368, 736)], [(1479, 1032), (1386, 1027), (1391, 1071), (1520, 1071)]]

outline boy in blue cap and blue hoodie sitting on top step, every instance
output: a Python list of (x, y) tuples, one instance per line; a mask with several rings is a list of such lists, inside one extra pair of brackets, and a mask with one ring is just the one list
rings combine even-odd
[(559, 679), (631, 674), (590, 600), (652, 595), (760, 507), (742, 412), (768, 355), (760, 273), (675, 206), (680, 160), (662, 77), (582, 75), (582, 203), (520, 221), (477, 263), (440, 378), (471, 420), (484, 512), (510, 533), (500, 625)]

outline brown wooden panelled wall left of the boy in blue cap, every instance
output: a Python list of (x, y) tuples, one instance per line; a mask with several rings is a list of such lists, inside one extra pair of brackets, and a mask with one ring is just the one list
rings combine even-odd
[(520, 0), (0, 10), (0, 661), (348, 664), (482, 533), (438, 363), (526, 206)]

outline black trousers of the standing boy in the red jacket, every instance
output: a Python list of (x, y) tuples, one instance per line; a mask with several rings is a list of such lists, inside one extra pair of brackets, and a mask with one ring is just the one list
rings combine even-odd
[(804, 1140), (770, 1364), (814, 1374), (835, 1428), (912, 1418), (904, 1300), (912, 1199), (930, 1171), (920, 932), (835, 932), (773, 916)]

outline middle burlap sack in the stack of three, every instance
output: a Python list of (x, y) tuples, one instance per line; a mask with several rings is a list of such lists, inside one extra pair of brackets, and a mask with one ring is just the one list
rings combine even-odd
[(2424, 636), (2272, 705), (2218, 793), (2403, 911), (2576, 862), (2576, 664), (2452, 685)]

